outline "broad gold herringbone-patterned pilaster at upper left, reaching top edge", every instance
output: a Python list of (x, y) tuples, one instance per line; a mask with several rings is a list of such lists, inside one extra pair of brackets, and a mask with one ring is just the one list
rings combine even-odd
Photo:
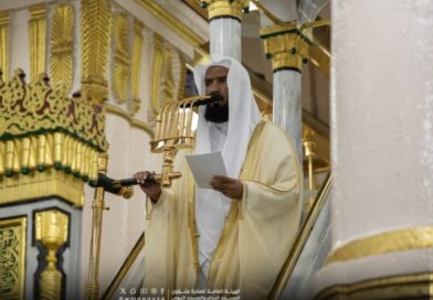
[(106, 65), (112, 26), (108, 0), (81, 0), (82, 97), (93, 105), (108, 97)]

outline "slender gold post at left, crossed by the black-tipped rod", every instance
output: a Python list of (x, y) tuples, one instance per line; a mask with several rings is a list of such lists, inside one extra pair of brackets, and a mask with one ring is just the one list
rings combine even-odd
[[(107, 172), (108, 154), (99, 154), (98, 172)], [(101, 251), (101, 235), (103, 226), (103, 210), (104, 204), (104, 188), (96, 188), (94, 201), (92, 203), (93, 218), (92, 218), (92, 240), (91, 240), (91, 258), (88, 268), (88, 280), (86, 285), (85, 299), (97, 300), (99, 285), (97, 281), (99, 270), (99, 251)]]

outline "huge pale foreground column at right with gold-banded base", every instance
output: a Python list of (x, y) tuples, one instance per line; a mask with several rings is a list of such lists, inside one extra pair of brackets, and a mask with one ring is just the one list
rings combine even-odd
[(433, 4), (331, 6), (332, 242), (315, 299), (431, 299)]

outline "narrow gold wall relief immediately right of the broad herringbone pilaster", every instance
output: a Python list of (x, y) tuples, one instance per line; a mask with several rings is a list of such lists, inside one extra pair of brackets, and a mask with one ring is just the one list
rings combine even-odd
[(128, 40), (128, 19), (125, 13), (118, 13), (113, 18), (113, 94), (118, 104), (123, 104), (129, 98), (130, 51)]

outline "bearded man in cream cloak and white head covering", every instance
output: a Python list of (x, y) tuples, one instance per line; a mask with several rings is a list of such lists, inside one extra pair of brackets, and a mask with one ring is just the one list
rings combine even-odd
[[(182, 176), (170, 189), (135, 176), (151, 200), (146, 226), (144, 286), (240, 289), (242, 298), (270, 293), (298, 232), (299, 162), (286, 135), (262, 121), (246, 69), (220, 57), (194, 69), (199, 93), (221, 104), (202, 106), (193, 151), (179, 151)], [(213, 190), (196, 186), (184, 154), (221, 151), (228, 176)]]

